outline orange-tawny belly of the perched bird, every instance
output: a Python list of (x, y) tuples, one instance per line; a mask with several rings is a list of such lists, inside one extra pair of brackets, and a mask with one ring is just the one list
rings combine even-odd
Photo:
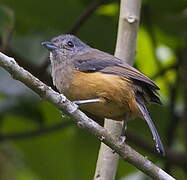
[(77, 72), (66, 95), (72, 101), (99, 98), (101, 102), (82, 104), (80, 109), (100, 118), (123, 120), (125, 114), (132, 117), (139, 112), (132, 88), (132, 81), (127, 78)]

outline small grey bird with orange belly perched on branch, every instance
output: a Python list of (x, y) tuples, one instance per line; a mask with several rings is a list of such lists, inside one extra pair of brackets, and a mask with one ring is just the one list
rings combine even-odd
[(71, 34), (42, 45), (50, 51), (53, 84), (80, 109), (101, 119), (143, 118), (156, 150), (165, 154), (146, 105), (161, 104), (159, 87), (137, 69), (106, 52), (94, 49)]

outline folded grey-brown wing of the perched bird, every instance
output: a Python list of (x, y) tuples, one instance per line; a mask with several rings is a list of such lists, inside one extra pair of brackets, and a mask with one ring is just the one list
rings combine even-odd
[[(98, 58), (90, 58), (95, 57), (95, 55), (89, 54), (82, 56), (80, 59), (74, 59), (75, 68), (82, 72), (101, 72), (127, 77), (137, 83), (148, 85), (152, 90), (159, 90), (159, 87), (151, 79), (124, 61), (101, 51), (96, 53)], [(98, 53), (100, 54), (98, 55)]]

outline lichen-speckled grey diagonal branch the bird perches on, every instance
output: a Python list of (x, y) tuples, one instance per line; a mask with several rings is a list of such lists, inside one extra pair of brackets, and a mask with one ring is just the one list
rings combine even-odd
[(69, 114), (79, 127), (88, 130), (90, 133), (95, 135), (100, 139), (100, 141), (115, 150), (123, 160), (131, 163), (154, 179), (174, 179), (162, 169), (154, 165), (151, 161), (137, 153), (126, 143), (122, 143), (119, 138), (112, 136), (105, 128), (88, 118), (78, 109), (77, 105), (69, 101), (64, 95), (55, 92), (51, 87), (48, 87), (28, 71), (20, 67), (13, 58), (0, 53), (0, 66), (7, 70), (14, 79), (23, 82), (26, 86), (32, 89), (42, 99), (49, 101), (58, 109)]

